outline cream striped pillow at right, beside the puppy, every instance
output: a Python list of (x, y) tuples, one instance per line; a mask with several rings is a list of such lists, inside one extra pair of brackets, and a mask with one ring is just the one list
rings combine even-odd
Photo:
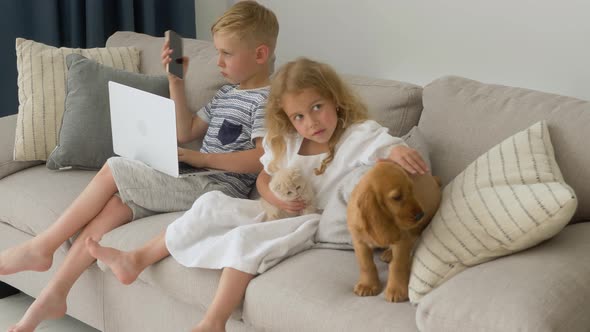
[(490, 149), (443, 191), (414, 252), (410, 301), (417, 303), (470, 266), (556, 235), (577, 207), (538, 122)]

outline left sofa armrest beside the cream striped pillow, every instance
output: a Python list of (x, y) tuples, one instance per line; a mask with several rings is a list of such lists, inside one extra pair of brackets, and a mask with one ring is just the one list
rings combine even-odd
[(42, 161), (15, 161), (14, 134), (16, 114), (0, 118), (0, 179), (22, 169), (42, 164)]

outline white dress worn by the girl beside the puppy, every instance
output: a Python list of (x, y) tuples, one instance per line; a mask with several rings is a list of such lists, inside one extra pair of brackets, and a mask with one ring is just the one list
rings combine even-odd
[[(387, 133), (387, 128), (367, 120), (351, 126), (336, 146), (334, 160), (324, 174), (313, 170), (326, 154), (298, 154), (303, 141), (299, 135), (286, 137), (287, 151), (280, 167), (299, 167), (316, 193), (316, 206), (323, 209), (335, 194), (338, 182), (361, 165), (386, 158), (391, 148), (403, 140)], [(272, 160), (266, 140), (260, 161), (264, 169)], [(187, 267), (237, 270), (258, 274), (281, 260), (309, 249), (320, 221), (319, 214), (261, 222), (264, 211), (258, 201), (229, 197), (219, 191), (199, 197), (192, 208), (166, 230), (166, 246), (180, 264)]]

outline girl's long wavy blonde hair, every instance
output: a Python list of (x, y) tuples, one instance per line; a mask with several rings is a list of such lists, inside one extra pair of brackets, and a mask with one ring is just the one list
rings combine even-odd
[(368, 118), (365, 104), (332, 67), (307, 58), (286, 63), (272, 79), (266, 104), (267, 142), (274, 157), (269, 169), (273, 172), (277, 170), (277, 164), (286, 151), (284, 135), (297, 132), (283, 110), (282, 97), (285, 94), (301, 93), (305, 89), (313, 89), (322, 97), (332, 100), (338, 116), (336, 130), (328, 141), (328, 156), (315, 169), (316, 175), (323, 174), (334, 159), (336, 144), (345, 129)]

